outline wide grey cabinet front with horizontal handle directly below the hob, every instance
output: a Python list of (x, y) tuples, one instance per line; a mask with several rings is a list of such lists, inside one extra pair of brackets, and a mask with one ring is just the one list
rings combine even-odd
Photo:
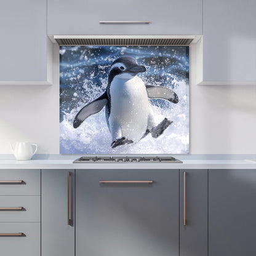
[(76, 170), (76, 256), (178, 256), (178, 192), (178, 170)]

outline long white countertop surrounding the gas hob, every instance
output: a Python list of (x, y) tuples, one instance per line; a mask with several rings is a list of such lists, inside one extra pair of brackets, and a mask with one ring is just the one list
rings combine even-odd
[[(256, 161), (246, 159), (182, 159), (181, 163), (86, 163), (73, 164), (74, 159), (34, 159), (17, 161), (0, 159), (0, 169), (255, 169)], [(255, 158), (254, 158), (255, 159)]]

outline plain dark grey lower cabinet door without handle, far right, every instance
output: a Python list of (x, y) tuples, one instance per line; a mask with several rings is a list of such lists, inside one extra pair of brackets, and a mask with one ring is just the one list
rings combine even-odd
[(255, 256), (256, 169), (209, 170), (209, 256)]

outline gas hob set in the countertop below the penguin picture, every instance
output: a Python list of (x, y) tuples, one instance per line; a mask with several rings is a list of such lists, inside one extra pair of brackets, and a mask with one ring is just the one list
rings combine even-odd
[(82, 156), (74, 161), (74, 163), (87, 163), (87, 162), (169, 162), (181, 163), (182, 161), (173, 158), (172, 156)]

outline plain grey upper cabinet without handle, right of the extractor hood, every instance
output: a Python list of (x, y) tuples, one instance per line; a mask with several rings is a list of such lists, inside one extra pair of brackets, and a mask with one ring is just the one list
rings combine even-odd
[(256, 1), (204, 0), (202, 84), (256, 84)]

